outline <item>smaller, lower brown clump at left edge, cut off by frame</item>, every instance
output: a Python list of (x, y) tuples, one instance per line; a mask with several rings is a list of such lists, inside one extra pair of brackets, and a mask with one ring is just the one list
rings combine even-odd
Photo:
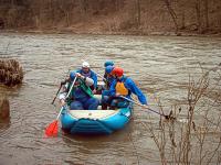
[(9, 119), (10, 114), (10, 107), (9, 107), (9, 100), (7, 97), (0, 97), (0, 120), (7, 120)]

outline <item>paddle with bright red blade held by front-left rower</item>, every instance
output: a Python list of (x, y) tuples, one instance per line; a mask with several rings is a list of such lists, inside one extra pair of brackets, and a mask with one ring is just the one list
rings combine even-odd
[[(72, 88), (73, 88), (73, 86), (74, 86), (74, 84), (76, 81), (76, 78), (77, 78), (77, 76), (75, 76), (74, 81), (73, 81), (73, 84), (72, 84), (72, 86), (71, 86), (71, 88), (70, 88), (70, 90), (69, 90), (69, 92), (67, 92), (67, 95), (65, 97), (65, 99), (69, 98), (69, 96), (70, 96), (70, 94), (72, 91)], [(48, 138), (50, 138), (50, 136), (57, 136), (57, 132), (59, 132), (59, 118), (60, 118), (63, 109), (64, 109), (64, 106), (62, 106), (62, 108), (61, 108), (61, 110), (60, 110), (59, 116), (56, 117), (56, 119), (52, 123), (50, 123), (49, 127), (46, 127), (44, 133), (45, 133), (45, 135)]]

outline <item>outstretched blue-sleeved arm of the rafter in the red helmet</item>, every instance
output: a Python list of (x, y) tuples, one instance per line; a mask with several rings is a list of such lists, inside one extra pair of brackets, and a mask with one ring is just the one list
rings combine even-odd
[(147, 105), (147, 98), (131, 79), (128, 79), (126, 85), (129, 87), (129, 90), (138, 97), (140, 103)]

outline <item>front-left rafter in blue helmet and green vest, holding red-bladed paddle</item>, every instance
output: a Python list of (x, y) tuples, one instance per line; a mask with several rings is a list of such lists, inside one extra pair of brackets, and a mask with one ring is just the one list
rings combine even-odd
[[(76, 80), (71, 90), (70, 97), (66, 98), (75, 77)], [(64, 86), (64, 92), (60, 95), (61, 106), (67, 103), (71, 110), (96, 110), (99, 100), (94, 98), (94, 94), (90, 88), (93, 85), (94, 80), (92, 78), (83, 76), (76, 72), (71, 72), (70, 80)]]

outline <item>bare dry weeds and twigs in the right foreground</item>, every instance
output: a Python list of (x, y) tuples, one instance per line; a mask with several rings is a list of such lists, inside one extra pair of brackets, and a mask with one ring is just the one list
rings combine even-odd
[[(189, 77), (186, 108), (173, 106), (171, 110), (177, 120), (160, 119), (158, 130), (143, 123), (158, 147), (161, 164), (221, 163), (221, 98), (213, 95), (221, 92), (220, 73), (219, 65), (202, 69), (198, 80)], [(178, 120), (180, 112), (187, 117), (186, 122)]]

